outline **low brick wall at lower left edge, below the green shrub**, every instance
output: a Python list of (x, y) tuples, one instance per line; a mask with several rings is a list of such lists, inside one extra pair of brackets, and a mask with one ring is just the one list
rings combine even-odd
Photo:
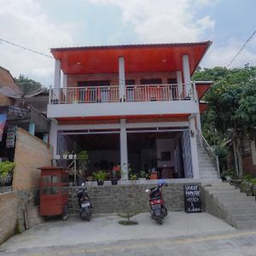
[(0, 193), (0, 244), (15, 233), (17, 194)]

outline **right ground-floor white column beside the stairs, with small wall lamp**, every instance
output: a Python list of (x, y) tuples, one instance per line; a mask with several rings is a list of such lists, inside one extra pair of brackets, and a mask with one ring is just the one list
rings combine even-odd
[(198, 153), (196, 143), (196, 131), (195, 131), (195, 116), (189, 116), (189, 131), (190, 131), (190, 148), (191, 159), (193, 167), (193, 177), (199, 178), (199, 166), (198, 166)]

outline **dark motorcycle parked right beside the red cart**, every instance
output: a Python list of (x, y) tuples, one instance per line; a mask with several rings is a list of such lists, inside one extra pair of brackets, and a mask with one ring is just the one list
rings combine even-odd
[(84, 183), (82, 183), (82, 188), (79, 188), (77, 195), (80, 208), (80, 218), (90, 221), (92, 207), (87, 189), (84, 188)]

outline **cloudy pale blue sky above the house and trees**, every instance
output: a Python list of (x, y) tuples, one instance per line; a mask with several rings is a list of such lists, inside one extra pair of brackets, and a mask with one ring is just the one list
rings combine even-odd
[[(256, 28), (255, 0), (0, 0), (0, 38), (50, 48), (212, 41), (201, 67), (226, 67)], [(256, 66), (256, 35), (230, 67)], [(44, 86), (55, 60), (0, 40), (0, 66)]]

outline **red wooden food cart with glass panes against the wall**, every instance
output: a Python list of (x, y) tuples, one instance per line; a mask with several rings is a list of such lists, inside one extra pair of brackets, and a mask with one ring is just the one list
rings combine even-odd
[(68, 172), (63, 167), (44, 166), (41, 169), (40, 214), (68, 218)]

